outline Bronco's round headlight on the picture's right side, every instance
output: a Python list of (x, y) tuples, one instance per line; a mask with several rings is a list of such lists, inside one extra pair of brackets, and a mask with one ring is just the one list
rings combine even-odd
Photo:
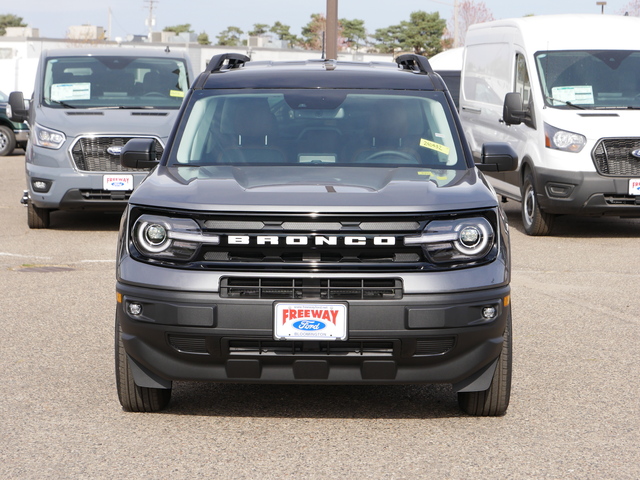
[(419, 237), (406, 237), (405, 245), (421, 245), (434, 263), (472, 262), (484, 258), (494, 245), (491, 223), (483, 217), (434, 220)]

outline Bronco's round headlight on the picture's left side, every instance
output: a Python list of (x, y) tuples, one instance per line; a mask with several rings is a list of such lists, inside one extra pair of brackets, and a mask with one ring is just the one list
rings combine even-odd
[(131, 230), (138, 251), (151, 258), (191, 260), (203, 244), (217, 245), (220, 237), (205, 235), (190, 218), (142, 215)]

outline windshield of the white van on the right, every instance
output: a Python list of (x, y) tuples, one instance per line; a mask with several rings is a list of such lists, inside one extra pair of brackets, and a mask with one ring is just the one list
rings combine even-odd
[(577, 50), (535, 55), (547, 105), (640, 108), (640, 52)]

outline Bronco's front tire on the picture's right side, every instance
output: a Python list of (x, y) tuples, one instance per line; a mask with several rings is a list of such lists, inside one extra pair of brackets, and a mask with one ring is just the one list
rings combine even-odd
[(491, 380), (491, 386), (483, 392), (459, 392), (458, 405), (469, 415), (478, 417), (501, 417), (507, 413), (511, 397), (512, 370), (511, 315), (504, 331), (502, 352)]

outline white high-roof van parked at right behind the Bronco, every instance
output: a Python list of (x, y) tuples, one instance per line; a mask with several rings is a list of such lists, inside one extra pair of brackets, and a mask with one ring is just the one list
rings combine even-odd
[(460, 116), (474, 157), (508, 142), (490, 180), (522, 202), (524, 229), (558, 214), (640, 217), (640, 18), (534, 16), (467, 32)]

